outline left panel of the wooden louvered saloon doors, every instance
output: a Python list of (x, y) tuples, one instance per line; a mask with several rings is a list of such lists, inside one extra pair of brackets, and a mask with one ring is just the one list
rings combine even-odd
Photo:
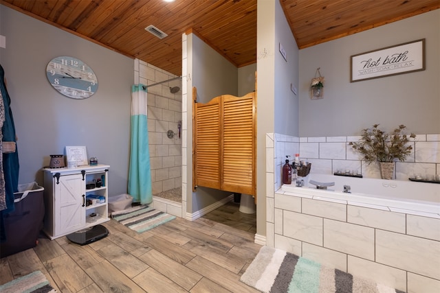
[(220, 97), (195, 106), (196, 185), (220, 189)]

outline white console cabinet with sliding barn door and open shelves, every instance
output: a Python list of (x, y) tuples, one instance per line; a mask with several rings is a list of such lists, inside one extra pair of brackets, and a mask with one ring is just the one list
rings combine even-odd
[[(43, 231), (50, 239), (109, 220), (107, 190), (109, 167), (109, 165), (84, 165), (76, 168), (43, 169), (45, 199)], [(102, 182), (100, 187), (96, 187), (98, 179)], [(98, 199), (91, 200), (91, 197)]]

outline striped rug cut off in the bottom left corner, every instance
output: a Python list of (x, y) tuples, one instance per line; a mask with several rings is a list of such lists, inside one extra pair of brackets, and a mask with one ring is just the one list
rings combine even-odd
[(0, 292), (2, 293), (48, 293), (56, 292), (54, 288), (47, 281), (43, 272), (36, 270), (23, 277), (14, 279), (8, 283), (0, 285)]

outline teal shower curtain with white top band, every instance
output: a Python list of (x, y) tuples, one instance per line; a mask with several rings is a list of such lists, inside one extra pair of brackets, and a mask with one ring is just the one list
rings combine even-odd
[(133, 196), (133, 202), (149, 204), (153, 201), (146, 120), (146, 87), (142, 84), (131, 86), (129, 194)]

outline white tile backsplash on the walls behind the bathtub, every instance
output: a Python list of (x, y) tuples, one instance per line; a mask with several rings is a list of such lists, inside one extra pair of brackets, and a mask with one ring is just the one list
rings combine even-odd
[[(283, 134), (267, 136), (272, 138), (275, 148), (274, 190), (281, 187), (281, 172), (286, 155), (292, 160), (297, 153), (301, 160), (311, 163), (311, 173), (333, 174), (338, 170), (351, 170), (360, 172), (367, 178), (380, 178), (379, 165), (368, 165), (349, 145), (350, 141), (359, 141), (360, 137), (289, 137)], [(405, 162), (395, 163), (394, 178), (408, 180), (414, 174), (420, 174), (431, 180), (435, 174), (440, 174), (440, 134), (417, 134), (410, 144), (410, 156)]]

